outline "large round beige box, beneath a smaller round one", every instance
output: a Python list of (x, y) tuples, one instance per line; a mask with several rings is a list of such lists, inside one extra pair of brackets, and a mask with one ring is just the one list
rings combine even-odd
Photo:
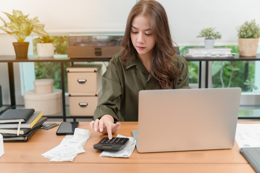
[(43, 115), (53, 115), (62, 111), (62, 90), (53, 89), (53, 93), (36, 94), (34, 90), (23, 93), (25, 109), (43, 111)]

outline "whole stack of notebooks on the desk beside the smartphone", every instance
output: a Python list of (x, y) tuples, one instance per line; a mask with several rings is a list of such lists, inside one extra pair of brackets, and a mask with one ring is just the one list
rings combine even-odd
[(45, 121), (42, 111), (9, 109), (0, 115), (0, 133), (4, 142), (27, 142)]

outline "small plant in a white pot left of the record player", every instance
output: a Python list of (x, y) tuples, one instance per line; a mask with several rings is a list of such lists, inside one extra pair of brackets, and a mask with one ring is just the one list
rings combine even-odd
[(54, 55), (53, 39), (50, 36), (41, 36), (38, 38), (40, 43), (37, 43), (37, 54), (39, 58), (49, 58)]

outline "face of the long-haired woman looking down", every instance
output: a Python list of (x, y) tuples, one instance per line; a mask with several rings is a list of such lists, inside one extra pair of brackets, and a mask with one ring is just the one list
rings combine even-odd
[(146, 16), (138, 15), (133, 19), (130, 36), (140, 57), (152, 56), (155, 38), (151, 31), (150, 21)]

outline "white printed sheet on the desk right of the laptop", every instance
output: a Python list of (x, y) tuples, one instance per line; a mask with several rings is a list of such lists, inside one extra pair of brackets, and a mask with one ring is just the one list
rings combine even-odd
[(260, 124), (237, 124), (237, 145), (242, 147), (260, 147)]

